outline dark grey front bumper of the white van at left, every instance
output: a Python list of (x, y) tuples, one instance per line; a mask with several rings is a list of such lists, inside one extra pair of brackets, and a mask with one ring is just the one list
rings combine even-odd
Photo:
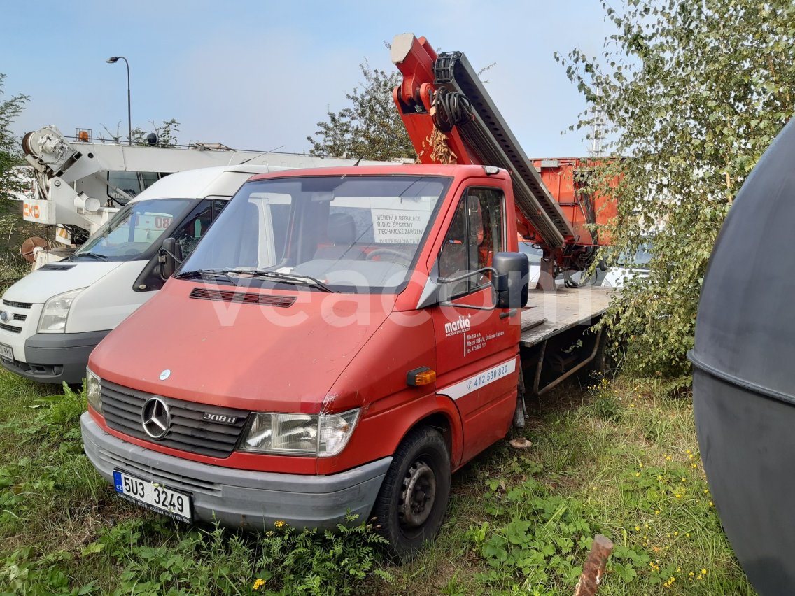
[(25, 339), (25, 362), (0, 358), (13, 373), (40, 383), (80, 385), (86, 376), (91, 350), (111, 331), (37, 333)]

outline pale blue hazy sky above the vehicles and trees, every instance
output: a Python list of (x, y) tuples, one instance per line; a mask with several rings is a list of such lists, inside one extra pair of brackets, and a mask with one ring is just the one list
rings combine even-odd
[[(599, 0), (6, 0), (0, 21), (0, 99), (30, 96), (12, 125), (54, 124), (67, 135), (103, 126), (126, 136), (130, 62), (133, 127), (180, 122), (180, 143), (308, 152), (306, 137), (363, 77), (391, 72), (398, 33), (461, 51), (529, 157), (587, 154), (584, 101), (553, 52), (589, 56), (613, 33)], [(107, 137), (107, 133), (104, 133)]]

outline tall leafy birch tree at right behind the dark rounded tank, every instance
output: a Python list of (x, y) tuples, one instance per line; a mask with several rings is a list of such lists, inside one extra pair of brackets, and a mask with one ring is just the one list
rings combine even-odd
[[(647, 279), (611, 307), (617, 341), (636, 370), (688, 381), (696, 306), (731, 202), (793, 112), (795, 4), (791, 0), (625, 0), (599, 58), (556, 56), (603, 122), (615, 160), (591, 177), (618, 216), (609, 256), (651, 239)], [(574, 128), (574, 127), (572, 127)], [(609, 188), (620, 175), (617, 188)], [(752, 263), (737, 263), (750, 267)]]

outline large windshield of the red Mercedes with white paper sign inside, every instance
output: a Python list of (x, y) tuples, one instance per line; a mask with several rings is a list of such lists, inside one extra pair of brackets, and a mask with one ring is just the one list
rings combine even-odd
[(178, 276), (220, 271), (245, 284), (400, 291), (448, 184), (366, 175), (248, 182)]

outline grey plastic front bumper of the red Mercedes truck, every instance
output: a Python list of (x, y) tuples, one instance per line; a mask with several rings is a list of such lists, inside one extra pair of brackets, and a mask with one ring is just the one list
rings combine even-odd
[(277, 474), (211, 466), (138, 447), (110, 435), (84, 412), (83, 447), (113, 483), (113, 470), (190, 493), (193, 517), (250, 530), (285, 521), (297, 528), (335, 528), (348, 513), (366, 521), (392, 462), (378, 459), (328, 476)]

